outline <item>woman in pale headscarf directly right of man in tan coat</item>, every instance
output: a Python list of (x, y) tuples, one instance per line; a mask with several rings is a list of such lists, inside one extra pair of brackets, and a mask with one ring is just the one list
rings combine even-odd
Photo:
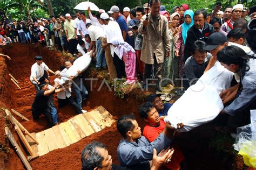
[(169, 83), (177, 82), (178, 78), (178, 58), (174, 55), (174, 47), (177, 45), (179, 39), (179, 20), (180, 15), (177, 12), (174, 12), (170, 16), (169, 21), (169, 36), (171, 40), (171, 50), (170, 50), (170, 57), (164, 59), (163, 63), (163, 82), (162, 85), (166, 86)]

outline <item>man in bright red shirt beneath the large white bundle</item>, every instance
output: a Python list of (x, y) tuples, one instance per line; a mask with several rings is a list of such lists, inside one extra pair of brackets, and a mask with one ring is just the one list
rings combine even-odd
[[(151, 102), (143, 103), (139, 107), (139, 115), (147, 123), (143, 130), (143, 136), (151, 142), (164, 130), (165, 122), (159, 118), (158, 111)], [(171, 162), (165, 166), (168, 169), (180, 169), (180, 163), (185, 159), (183, 153), (177, 144), (173, 143), (171, 147), (174, 148), (173, 157)]]

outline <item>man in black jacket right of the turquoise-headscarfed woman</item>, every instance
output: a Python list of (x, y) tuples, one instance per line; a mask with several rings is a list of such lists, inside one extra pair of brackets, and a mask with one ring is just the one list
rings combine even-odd
[(194, 25), (187, 31), (187, 39), (184, 51), (184, 63), (191, 56), (192, 46), (195, 41), (207, 41), (207, 38), (214, 32), (213, 26), (206, 23), (207, 12), (200, 9), (194, 12)]

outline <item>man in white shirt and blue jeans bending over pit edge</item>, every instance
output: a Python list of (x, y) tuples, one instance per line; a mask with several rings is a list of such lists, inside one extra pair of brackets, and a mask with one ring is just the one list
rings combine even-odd
[(99, 26), (94, 26), (91, 23), (86, 24), (87, 31), (90, 35), (91, 38), (91, 44), (92, 46), (96, 45), (96, 68), (98, 70), (101, 69), (106, 69), (106, 59), (105, 59), (105, 54), (102, 48), (102, 38), (105, 37), (104, 31), (101, 27)]

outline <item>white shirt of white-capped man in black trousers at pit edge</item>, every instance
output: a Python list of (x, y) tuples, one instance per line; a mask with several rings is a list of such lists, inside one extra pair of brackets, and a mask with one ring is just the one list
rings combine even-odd
[[(107, 24), (107, 26), (105, 27), (104, 32), (107, 37), (107, 43), (111, 43), (110, 40), (113, 37), (119, 37), (119, 38), (123, 39), (122, 31), (117, 22), (113, 22), (110, 20), (109, 24)], [(111, 55), (114, 57), (114, 46), (113, 45), (110, 45), (110, 51), (111, 51)]]

